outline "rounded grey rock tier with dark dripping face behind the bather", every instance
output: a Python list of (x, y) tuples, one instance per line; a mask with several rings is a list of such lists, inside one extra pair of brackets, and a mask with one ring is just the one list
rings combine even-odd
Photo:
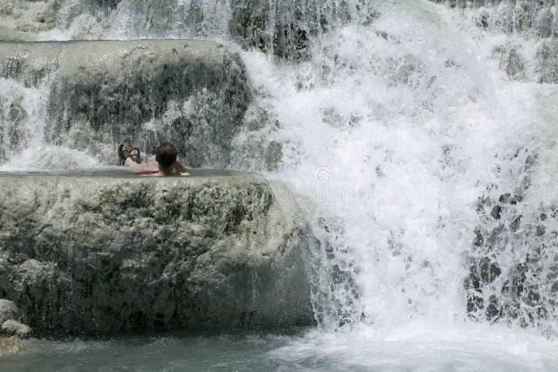
[(211, 41), (0, 43), (0, 76), (52, 77), (45, 137), (105, 163), (114, 144), (170, 140), (186, 163), (223, 167), (250, 102), (239, 55)]

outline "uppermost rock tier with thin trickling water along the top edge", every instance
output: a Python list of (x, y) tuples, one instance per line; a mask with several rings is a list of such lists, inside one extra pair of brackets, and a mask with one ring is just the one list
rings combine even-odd
[[(234, 38), (286, 59), (308, 57), (310, 36), (377, 17), (367, 1), (0, 0), (0, 40)], [(18, 38), (19, 37), (19, 38)], [(23, 39), (23, 37), (25, 39)]]

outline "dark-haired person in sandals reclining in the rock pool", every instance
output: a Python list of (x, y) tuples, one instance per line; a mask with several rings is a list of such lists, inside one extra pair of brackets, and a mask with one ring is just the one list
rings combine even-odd
[(188, 169), (178, 161), (176, 156), (178, 151), (174, 144), (163, 142), (155, 151), (155, 160), (157, 164), (146, 163), (140, 164), (140, 149), (137, 147), (126, 146), (121, 144), (118, 148), (118, 156), (120, 164), (126, 168), (132, 168), (135, 174), (151, 175), (151, 176), (189, 176)]

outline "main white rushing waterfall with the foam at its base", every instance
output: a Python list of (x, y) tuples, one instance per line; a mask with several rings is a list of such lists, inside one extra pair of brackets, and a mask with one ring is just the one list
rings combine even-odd
[[(507, 38), (517, 38), (526, 50), (536, 41), (487, 33), (470, 18), (426, 1), (379, 8), (382, 16), (370, 27), (347, 24), (315, 40), (308, 64), (277, 66), (243, 54), (255, 84), (269, 93), (262, 105), (273, 107), (282, 123), (276, 140), (287, 144), (282, 170), (270, 176), (287, 181), (303, 201), (317, 200), (313, 216), (326, 219), (315, 230), (333, 255), (324, 251), (326, 293), (316, 296), (317, 314), (324, 315), (319, 319), (329, 332), (343, 323), (349, 332), (315, 334), (309, 339), (320, 341), (308, 339), (283, 351), (309, 357), (332, 350), (339, 359), (379, 369), (386, 364), (375, 360), (374, 351), (380, 359), (386, 356), (377, 348), (391, 349), (387, 353), (398, 361), (413, 361), (407, 367), (395, 362), (395, 369), (472, 355), (478, 364), (465, 362), (463, 369), (558, 368), (555, 345), (543, 340), (540, 355), (549, 359), (529, 362), (536, 352), (529, 351), (531, 336), (520, 336), (522, 320), (500, 318), (510, 329), (472, 323), (464, 286), (470, 260), (483, 254), (473, 246), (475, 229), (485, 223), (476, 211), (478, 198), (511, 192), (525, 176), (528, 156), (538, 156), (516, 211), (529, 214), (556, 200), (557, 87), (511, 82), (494, 52)], [(301, 84), (312, 87), (297, 89)], [(529, 216), (522, 222), (520, 232), (536, 223)], [(486, 223), (488, 230), (499, 224)], [(525, 235), (504, 239), (499, 251), (487, 254), (502, 276), (511, 276), (533, 255), (536, 242)], [(555, 246), (555, 239), (545, 244)], [(555, 253), (549, 251), (540, 257), (548, 262), (533, 285), (553, 315), (538, 322), (534, 334), (554, 338), (555, 276), (548, 266)], [(485, 304), (492, 295), (506, 301), (502, 286), (485, 288)], [(529, 306), (536, 307), (522, 303), (520, 312), (530, 313)], [(515, 353), (516, 345), (527, 349)], [(431, 348), (428, 356), (418, 357), (425, 352), (421, 348)], [(499, 353), (506, 356), (499, 359)], [(495, 365), (489, 355), (498, 359)], [(460, 365), (425, 370), (445, 368)]]

